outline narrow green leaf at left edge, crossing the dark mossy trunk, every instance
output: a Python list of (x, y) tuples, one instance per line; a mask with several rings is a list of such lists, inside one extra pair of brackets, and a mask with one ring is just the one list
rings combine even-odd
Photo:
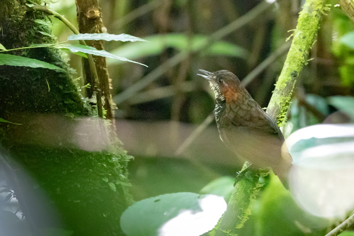
[(47, 68), (51, 70), (65, 71), (64, 69), (57, 67), (56, 65), (52, 65), (47, 62), (42, 62), (37, 59), (10, 55), (10, 54), (3, 54), (3, 53), (0, 53), (0, 65), (13, 65), (19, 67), (32, 67), (32, 68)]

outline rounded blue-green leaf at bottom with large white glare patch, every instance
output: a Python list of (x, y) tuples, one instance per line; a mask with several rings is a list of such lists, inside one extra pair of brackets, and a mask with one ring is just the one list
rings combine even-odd
[(136, 202), (123, 212), (120, 225), (127, 236), (201, 235), (225, 209), (221, 196), (177, 192)]

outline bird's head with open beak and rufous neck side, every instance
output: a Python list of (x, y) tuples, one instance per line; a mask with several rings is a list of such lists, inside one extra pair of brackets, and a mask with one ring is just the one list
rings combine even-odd
[(198, 70), (198, 72), (201, 73), (198, 75), (209, 81), (217, 102), (237, 98), (241, 82), (236, 75), (227, 70), (219, 70), (213, 73), (206, 70)]

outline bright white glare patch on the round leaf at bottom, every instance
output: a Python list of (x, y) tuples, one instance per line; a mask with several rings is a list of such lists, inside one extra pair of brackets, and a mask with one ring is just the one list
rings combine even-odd
[(198, 200), (201, 211), (181, 211), (159, 229), (159, 236), (199, 236), (213, 229), (221, 215), (226, 211), (222, 196), (207, 195)]

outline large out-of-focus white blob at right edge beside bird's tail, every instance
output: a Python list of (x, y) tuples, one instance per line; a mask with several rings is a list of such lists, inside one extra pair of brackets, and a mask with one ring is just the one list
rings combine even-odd
[(290, 191), (304, 210), (344, 218), (354, 209), (354, 125), (314, 125), (286, 139)]

